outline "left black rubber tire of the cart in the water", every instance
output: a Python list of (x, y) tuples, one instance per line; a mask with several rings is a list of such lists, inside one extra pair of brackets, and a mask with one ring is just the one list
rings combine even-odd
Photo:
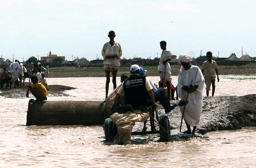
[(104, 122), (104, 134), (106, 141), (113, 141), (117, 134), (117, 125), (109, 118)]

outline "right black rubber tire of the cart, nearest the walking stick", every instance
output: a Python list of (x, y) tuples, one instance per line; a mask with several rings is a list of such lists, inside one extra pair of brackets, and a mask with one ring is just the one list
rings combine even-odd
[[(159, 118), (159, 124), (169, 133), (171, 134), (170, 129), (170, 122), (168, 119), (168, 116), (166, 114), (162, 114)], [(160, 132), (160, 141), (161, 142), (168, 142), (171, 140), (171, 136), (162, 128), (159, 126), (159, 132)]]

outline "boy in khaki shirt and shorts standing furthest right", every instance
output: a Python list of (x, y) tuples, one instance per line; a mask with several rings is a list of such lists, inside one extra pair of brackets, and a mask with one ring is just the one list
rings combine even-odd
[(217, 75), (217, 81), (219, 82), (217, 63), (212, 60), (211, 51), (208, 51), (206, 53), (206, 57), (207, 57), (207, 60), (204, 61), (202, 64), (202, 73), (203, 73), (205, 85), (206, 85), (206, 88), (205, 88), (206, 95), (209, 96), (209, 91), (211, 90), (211, 84), (212, 84), (212, 96), (214, 96), (216, 75)]

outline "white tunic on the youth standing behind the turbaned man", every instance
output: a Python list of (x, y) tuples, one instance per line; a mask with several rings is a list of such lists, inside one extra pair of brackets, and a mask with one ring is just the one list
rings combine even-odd
[[(176, 55), (169, 50), (164, 50), (162, 51), (161, 57), (160, 57), (160, 62), (158, 65), (158, 71), (161, 72), (170, 72), (171, 71), (171, 67), (170, 64), (167, 62), (166, 65), (163, 64), (163, 61), (168, 60), (169, 58), (171, 59), (171, 62), (174, 62), (176, 60)], [(166, 66), (166, 68), (165, 68)]]

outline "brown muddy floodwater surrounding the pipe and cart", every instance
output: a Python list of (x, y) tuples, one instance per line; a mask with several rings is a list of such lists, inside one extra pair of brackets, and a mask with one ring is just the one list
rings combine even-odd
[[(159, 81), (159, 77), (149, 78)], [(176, 86), (177, 77), (172, 78)], [(256, 76), (219, 78), (216, 96), (256, 93)], [(49, 94), (48, 101), (103, 101), (105, 97), (105, 78), (47, 78), (47, 82), (77, 88), (65, 91), (69, 96)], [(109, 93), (112, 89), (110, 83)], [(129, 146), (112, 145), (104, 142), (102, 126), (25, 126), (32, 98), (25, 94), (16, 99), (0, 97), (1, 168), (256, 167), (256, 127), (209, 132), (208, 138), (175, 142), (157, 142), (157, 134), (138, 135), (132, 136)]]

